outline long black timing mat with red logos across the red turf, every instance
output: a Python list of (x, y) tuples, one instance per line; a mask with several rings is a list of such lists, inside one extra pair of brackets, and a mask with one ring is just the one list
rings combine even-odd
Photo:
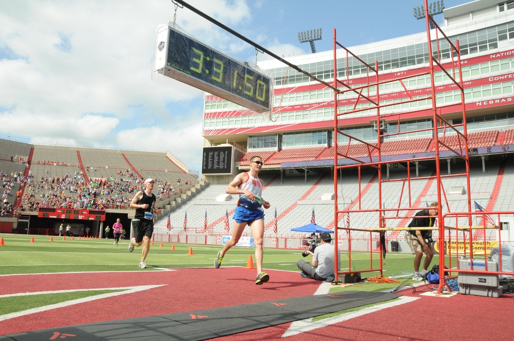
[(400, 297), (393, 293), (346, 291), (300, 296), (225, 308), (104, 321), (0, 336), (0, 341), (68, 338), (95, 340), (204, 340), (276, 326)]

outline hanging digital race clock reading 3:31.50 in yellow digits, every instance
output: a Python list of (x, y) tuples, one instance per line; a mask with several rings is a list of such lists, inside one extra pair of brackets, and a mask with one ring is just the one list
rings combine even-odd
[(155, 70), (257, 112), (271, 110), (271, 78), (169, 27), (157, 35)]

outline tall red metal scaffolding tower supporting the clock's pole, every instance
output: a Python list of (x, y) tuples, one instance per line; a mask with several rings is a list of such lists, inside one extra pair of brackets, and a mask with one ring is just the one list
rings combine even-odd
[[(433, 18), (428, 12), (428, 6), (427, 6), (427, 0), (425, 0), (425, 17), (426, 17), (426, 31), (427, 31), (427, 45), (428, 45), (428, 59), (429, 59), (429, 70), (426, 72), (420, 72), (408, 76), (403, 76), (403, 72), (397, 72), (392, 73), (391, 77), (385, 77), (388, 78), (386, 80), (379, 80), (379, 67), (378, 67), (378, 61), (375, 61), (375, 65), (369, 65), (368, 63), (361, 60), (357, 55), (352, 53), (350, 50), (345, 48), (343, 45), (338, 43), (336, 39), (336, 29), (334, 29), (334, 88), (337, 90), (334, 91), (334, 146), (335, 146), (335, 153), (334, 153), (334, 201), (335, 201), (335, 210), (334, 210), (334, 222), (335, 222), (335, 239), (339, 242), (340, 240), (344, 240), (347, 242), (348, 245), (348, 271), (338, 272), (336, 275), (336, 281), (338, 281), (340, 275), (345, 274), (354, 274), (357, 272), (376, 272), (379, 271), (382, 275), (382, 254), (383, 254), (383, 248), (386, 246), (385, 243), (378, 243), (378, 248), (374, 248), (373, 242), (376, 240), (380, 240), (380, 228), (385, 227), (385, 222), (388, 218), (390, 218), (390, 214), (394, 214), (394, 217), (392, 218), (404, 218), (407, 219), (416, 210), (420, 210), (420, 207), (415, 207), (412, 203), (411, 198), (411, 182), (416, 181), (430, 181), (433, 180), (436, 182), (437, 187), (437, 202), (439, 203), (439, 210), (438, 210), (438, 221), (439, 221), (439, 239), (437, 240), (437, 243), (439, 245), (439, 250), (444, 250), (444, 236), (445, 236), (445, 225), (443, 215), (442, 215), (442, 195), (444, 196), (444, 188), (443, 183), (441, 181), (441, 173), (440, 173), (440, 163), (439, 163), (439, 146), (445, 146), (449, 150), (452, 151), (457, 157), (462, 158), (466, 165), (466, 172), (461, 174), (453, 174), (453, 175), (444, 175), (444, 177), (465, 177), (466, 183), (467, 183), (467, 201), (468, 201), (468, 211), (471, 212), (471, 196), (470, 196), (470, 182), (469, 182), (469, 156), (468, 156), (468, 139), (467, 139), (467, 126), (466, 126), (466, 108), (464, 104), (464, 85), (462, 81), (462, 69), (461, 69), (461, 58), (460, 58), (460, 49), (458, 46), (458, 41), (456, 41), (455, 44), (453, 44), (450, 39), (446, 36), (446, 34), (439, 28), (439, 26), (435, 23)], [(430, 30), (430, 23), (432, 23), (435, 26), (435, 29)], [(432, 41), (431, 34), (435, 34), (435, 40)], [(440, 37), (440, 39), (439, 39)], [(440, 62), (441, 60), (441, 44), (444, 42), (445, 44), (450, 46), (450, 54), (451, 54), (451, 68), (445, 69)], [(435, 45), (435, 46), (434, 46)], [(342, 48), (342, 50), (338, 50), (338, 48)], [(345, 68), (340, 68), (338, 66), (338, 52), (342, 52), (346, 58), (345, 58)], [(339, 54), (339, 56), (342, 56)], [(352, 87), (352, 82), (350, 82), (350, 60), (352, 59), (353, 62), (358, 61), (361, 64), (361, 69), (365, 68), (366, 70), (366, 76), (368, 82), (366, 84), (360, 84), (358, 86)], [(439, 105), (436, 100), (436, 86), (435, 86), (435, 78), (434, 73), (437, 71), (442, 71), (445, 75), (445, 78), (453, 84), (454, 87), (456, 87), (458, 90), (460, 90), (460, 101), (453, 102), (451, 104), (447, 105)], [(345, 76), (344, 79), (339, 79), (340, 74)], [(400, 75), (401, 77), (394, 77), (395, 75)], [(419, 91), (415, 91), (415, 89), (412, 89), (408, 86), (409, 79), (420, 77), (423, 75), (428, 75), (430, 78), (430, 92), (428, 94), (420, 94)], [(392, 83), (399, 83), (401, 85), (401, 88), (403, 89), (403, 94), (405, 94), (406, 98), (405, 100), (399, 100), (396, 102), (385, 102), (383, 100), (384, 96), (380, 94), (379, 89), (381, 86), (385, 86), (386, 84), (392, 84)], [(392, 86), (391, 86), (392, 87)], [(357, 98), (355, 101), (355, 104), (351, 110), (343, 110), (339, 111), (338, 102), (339, 97), (344, 96), (346, 93), (353, 92), (356, 94)], [(387, 96), (387, 95), (386, 95)], [(407, 104), (407, 103), (415, 103), (417, 102), (417, 107), (419, 109), (417, 110), (410, 110), (410, 111), (401, 111), (401, 110), (395, 110), (393, 113), (382, 113), (382, 108), (391, 107), (394, 105), (401, 105), (401, 104)], [(366, 105), (363, 105), (362, 107), (358, 107), (358, 104), (363, 103)], [(462, 109), (462, 131), (457, 129), (456, 126), (452, 125), (448, 120), (446, 120), (441, 114), (441, 108), (445, 106), (460, 106)], [(407, 119), (408, 115), (412, 115), (413, 112), (421, 111), (421, 110), (427, 110), (429, 109), (431, 112), (431, 119), (432, 119), (432, 127), (427, 129), (420, 129), (420, 130), (410, 130), (410, 131), (401, 131), (400, 129), (400, 122), (402, 121), (402, 118)], [(351, 136), (347, 134), (347, 132), (344, 132), (341, 130), (342, 124), (341, 120), (346, 115), (351, 115), (359, 112), (370, 112), (370, 111), (376, 111), (376, 115), (374, 116), (374, 122), (375, 126), (377, 127), (377, 142), (375, 143), (368, 143), (365, 141), (362, 141), (354, 136)], [(398, 131), (393, 133), (388, 133), (387, 129), (381, 129), (381, 123), (383, 125), (384, 122), (398, 122)], [(390, 180), (388, 178), (384, 179), (382, 177), (382, 167), (389, 166), (388, 163), (390, 161), (383, 161), (382, 160), (382, 142), (384, 137), (391, 137), (391, 136), (402, 136), (412, 132), (420, 132), (420, 131), (429, 131), (432, 130), (432, 137), (433, 140), (436, 141), (434, 143), (435, 152), (433, 155), (424, 156), (424, 157), (417, 157), (417, 158), (406, 158), (406, 159), (400, 159), (395, 160), (395, 162), (398, 163), (406, 163), (407, 164), (407, 177), (404, 179), (394, 179)], [(458, 141), (460, 144), (460, 148), (458, 150), (451, 148), (445, 143), (445, 132), (446, 130), (452, 130), (455, 131), (458, 135)], [(439, 138), (439, 133), (442, 132), (443, 136), (442, 138)], [(340, 150), (338, 148), (338, 136), (345, 136), (348, 138), (348, 145), (346, 147), (346, 150)], [(350, 147), (350, 144), (352, 141), (356, 141), (359, 143), (365, 144), (368, 150), (368, 156), (366, 156), (365, 161), (363, 161), (362, 158), (354, 158), (351, 155), (348, 155), (348, 150)], [(341, 148), (345, 149), (345, 148)], [(341, 162), (344, 159), (351, 160), (350, 162)], [(434, 160), (435, 161), (435, 167), (436, 172), (435, 174), (432, 174), (428, 177), (411, 177), (410, 167), (411, 164), (417, 164), (421, 161), (427, 161), (427, 160)], [(348, 163), (348, 164), (343, 164)], [(359, 193), (361, 192), (361, 169), (362, 167), (373, 167), (376, 169), (376, 177), (378, 186), (377, 188), (377, 197), (378, 197), (378, 205), (377, 207), (374, 207), (373, 209), (363, 209), (361, 205), (361, 195), (359, 195), (355, 201), (347, 206), (341, 206), (338, 201), (338, 181), (340, 181), (341, 177), (341, 170), (345, 168), (358, 168), (358, 181), (359, 181)], [(416, 168), (417, 169), (417, 168)], [(397, 202), (396, 207), (385, 207), (382, 204), (382, 184), (385, 182), (390, 181), (402, 181), (402, 194), (399, 197), (399, 200)], [(407, 189), (405, 189), (405, 184), (407, 184)], [(405, 207), (401, 207), (402, 202), (402, 196), (403, 192), (408, 192), (408, 205)], [(359, 226), (359, 228), (350, 228), (350, 226), (345, 226), (343, 223), (343, 218), (346, 214), (351, 213), (362, 213), (362, 212), (368, 212), (369, 214), (376, 215), (375, 218), (369, 219), (368, 223), (370, 226)], [(469, 216), (469, 225), (471, 226), (471, 216)], [(383, 229), (385, 230), (385, 229)], [(344, 231), (345, 233), (340, 233), (341, 231)], [(366, 232), (370, 234), (370, 267), (369, 269), (355, 269), (352, 271), (352, 232), (360, 233)], [(383, 234), (382, 234), (383, 238)], [(377, 261), (374, 262), (373, 257), (373, 250), (376, 250), (379, 252), (380, 261), (377, 264)], [(336, 247), (337, 250), (337, 247)], [(375, 251), (375, 252), (376, 252)], [(440, 257), (440, 269), (444, 268), (444, 257)], [(444, 279), (441, 279), (440, 286), (444, 284)], [(439, 287), (440, 290), (440, 287)]]

